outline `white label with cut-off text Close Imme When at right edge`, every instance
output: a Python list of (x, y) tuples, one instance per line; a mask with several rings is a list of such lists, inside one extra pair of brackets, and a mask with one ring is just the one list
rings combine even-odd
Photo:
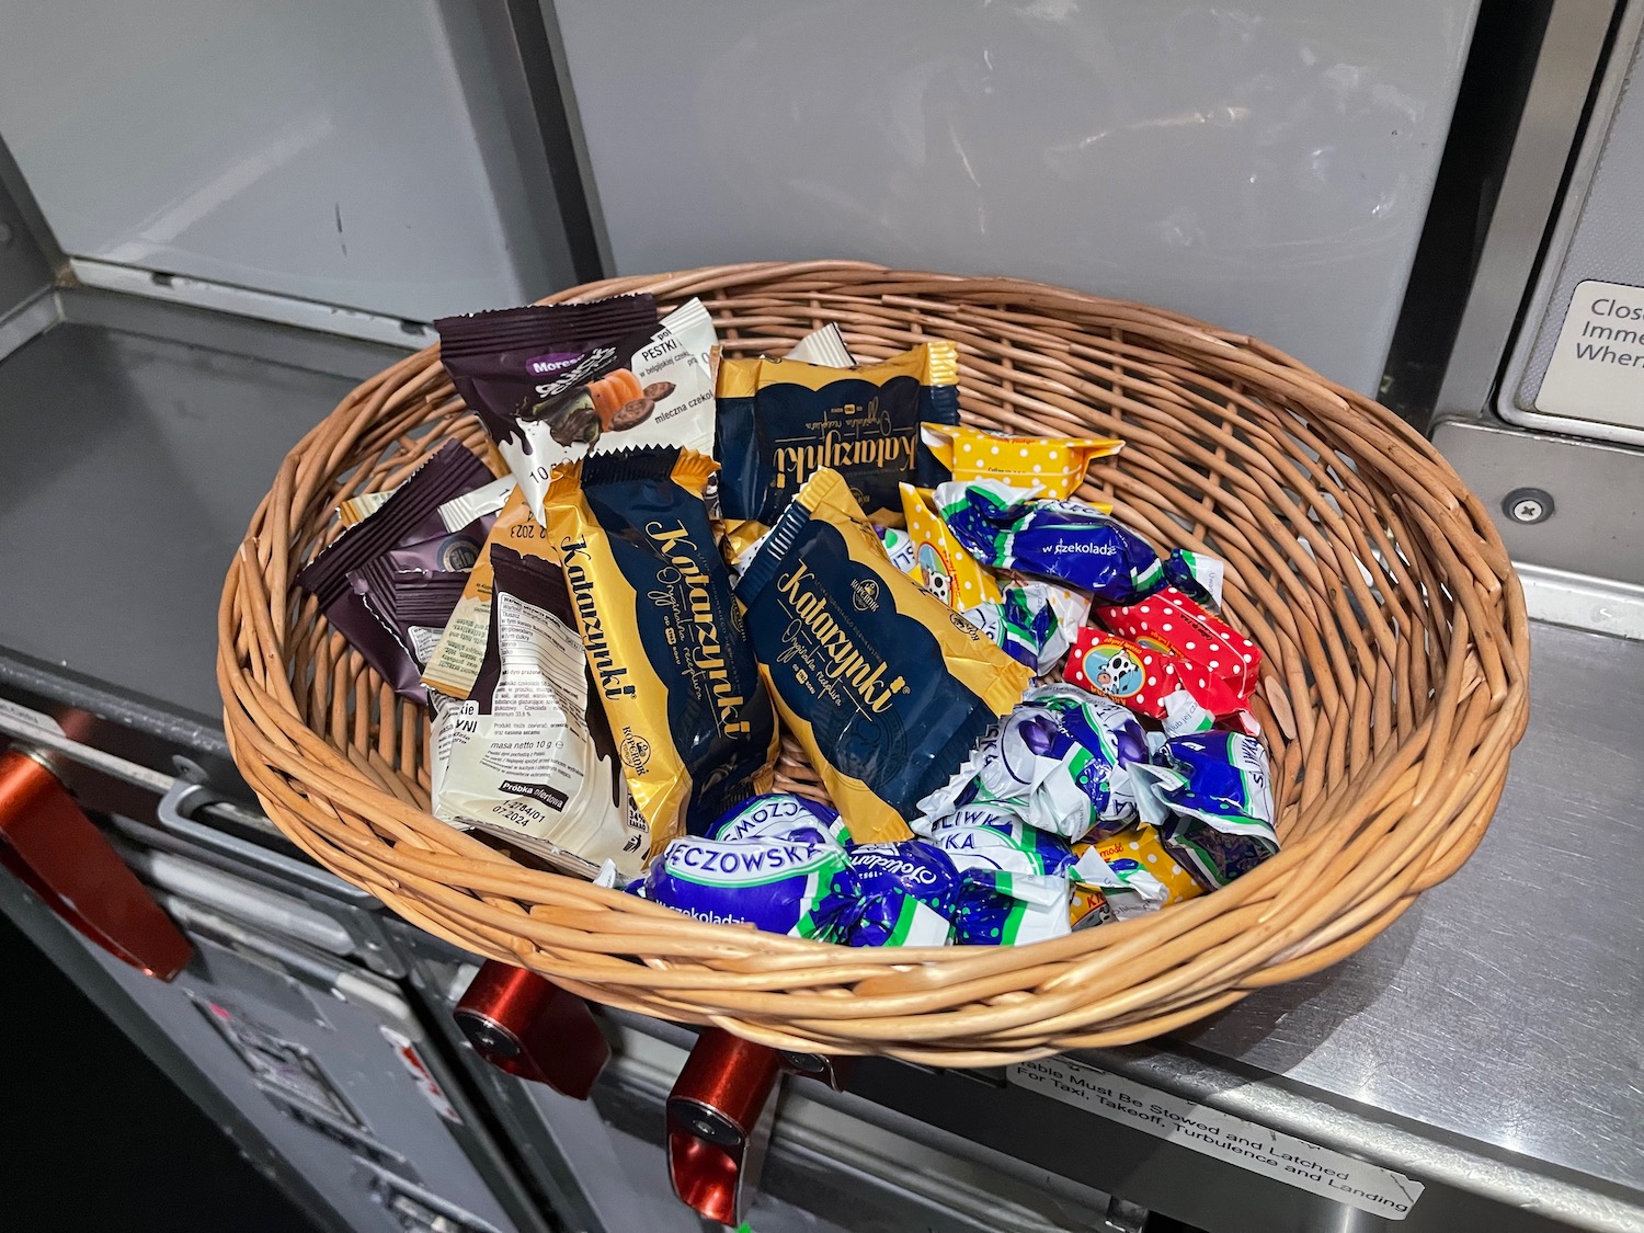
[(1598, 279), (1575, 288), (1535, 409), (1644, 427), (1644, 288)]

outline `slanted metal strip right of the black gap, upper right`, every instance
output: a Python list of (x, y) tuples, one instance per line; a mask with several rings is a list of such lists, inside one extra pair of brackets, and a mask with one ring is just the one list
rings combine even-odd
[(1616, 0), (1557, 0), (1547, 18), (1512, 155), (1496, 194), (1435, 411), (1473, 418), (1489, 404), (1542, 237), (1559, 202)]

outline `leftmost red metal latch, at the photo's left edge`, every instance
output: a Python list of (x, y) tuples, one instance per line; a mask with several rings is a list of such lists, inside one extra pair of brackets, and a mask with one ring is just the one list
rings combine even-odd
[(171, 980), (194, 954), (33, 751), (0, 753), (0, 865), (81, 934), (146, 977)]

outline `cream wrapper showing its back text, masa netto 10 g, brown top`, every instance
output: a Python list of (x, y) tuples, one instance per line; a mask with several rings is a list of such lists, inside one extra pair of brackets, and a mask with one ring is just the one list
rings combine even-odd
[(473, 692), (434, 718), (436, 817), (636, 876), (651, 835), (628, 804), (615, 743), (572, 628), (559, 566), (492, 549), (492, 636)]

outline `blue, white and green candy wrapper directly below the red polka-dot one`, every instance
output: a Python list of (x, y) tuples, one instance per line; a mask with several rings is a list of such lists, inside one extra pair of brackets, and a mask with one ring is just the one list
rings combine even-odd
[(1138, 769), (1138, 806), (1202, 886), (1226, 886), (1279, 850), (1261, 741), (1233, 732), (1166, 740)]

